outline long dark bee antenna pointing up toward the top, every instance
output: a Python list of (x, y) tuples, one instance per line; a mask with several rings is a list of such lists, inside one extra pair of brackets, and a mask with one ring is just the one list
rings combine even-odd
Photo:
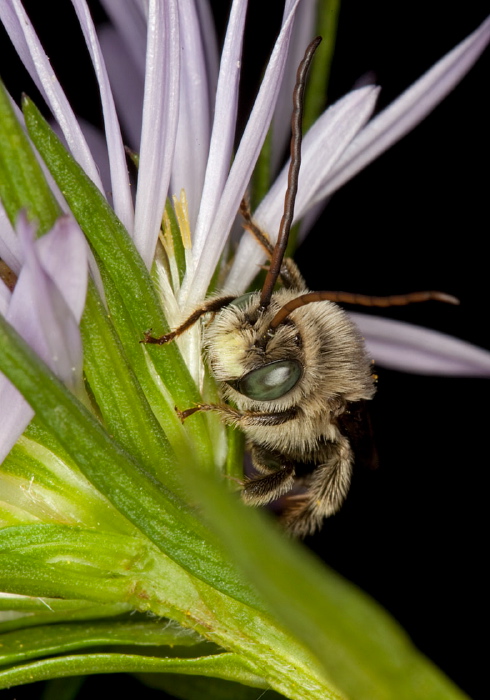
[(293, 113), (291, 116), (291, 163), (289, 165), (288, 172), (288, 186), (284, 197), (284, 212), (281, 219), (281, 225), (279, 226), (277, 242), (274, 246), (274, 252), (272, 254), (269, 270), (267, 272), (264, 286), (262, 287), (262, 292), (260, 295), (260, 306), (262, 308), (266, 308), (270, 304), (274, 286), (281, 272), (282, 260), (284, 258), (284, 253), (288, 244), (289, 232), (291, 231), (291, 225), (293, 223), (294, 203), (296, 200), (296, 193), (298, 191), (298, 176), (301, 165), (301, 141), (303, 140), (301, 125), (303, 120), (306, 76), (313, 58), (313, 54), (315, 53), (321, 40), (322, 38), (317, 36), (310, 44), (308, 44), (308, 48), (306, 49), (303, 60), (299, 64), (296, 73), (296, 84), (293, 91)]

